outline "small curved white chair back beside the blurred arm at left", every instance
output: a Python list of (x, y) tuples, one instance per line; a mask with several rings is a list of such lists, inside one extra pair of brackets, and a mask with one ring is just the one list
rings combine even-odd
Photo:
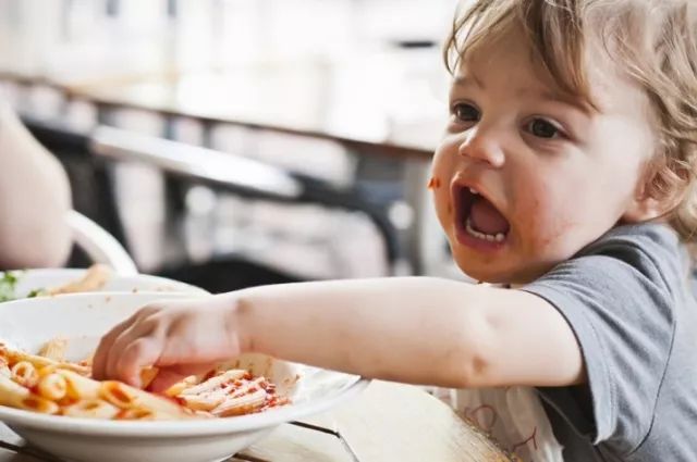
[(129, 252), (101, 226), (74, 210), (68, 212), (66, 221), (75, 245), (91, 263), (108, 264), (122, 276), (138, 274)]

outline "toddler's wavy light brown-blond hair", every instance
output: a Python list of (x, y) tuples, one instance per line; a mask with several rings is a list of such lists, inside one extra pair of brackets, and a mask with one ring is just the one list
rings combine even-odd
[[(596, 107), (585, 60), (591, 41), (649, 97), (659, 145), (646, 193), (697, 244), (697, 0), (476, 0), (453, 21), (443, 59), (468, 53), (522, 25), (536, 59), (562, 91)], [(695, 254), (695, 252), (693, 252)]]

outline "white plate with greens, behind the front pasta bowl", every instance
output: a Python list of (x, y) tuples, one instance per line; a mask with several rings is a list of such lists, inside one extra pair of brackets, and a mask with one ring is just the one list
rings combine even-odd
[[(13, 271), (12, 273), (17, 277), (14, 296), (15, 298), (25, 298), (33, 290), (64, 286), (65, 284), (81, 279), (86, 272), (87, 270), (78, 269)], [(4, 273), (0, 272), (0, 278), (3, 275)], [(97, 291), (208, 294), (206, 290), (189, 284), (147, 274), (138, 274), (135, 276), (119, 276), (118, 274), (113, 274), (107, 284)]]

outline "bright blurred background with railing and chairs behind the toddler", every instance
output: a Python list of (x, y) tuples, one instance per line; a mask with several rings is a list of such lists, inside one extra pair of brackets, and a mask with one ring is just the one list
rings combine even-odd
[(455, 7), (0, 0), (0, 98), (144, 273), (460, 277), (426, 189)]

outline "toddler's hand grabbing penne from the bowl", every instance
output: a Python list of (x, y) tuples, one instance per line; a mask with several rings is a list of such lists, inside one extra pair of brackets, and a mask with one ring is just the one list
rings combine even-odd
[(185, 376), (210, 371), (241, 352), (236, 310), (218, 297), (151, 303), (102, 337), (94, 376), (140, 386), (139, 372), (160, 371), (150, 384), (159, 391)]

